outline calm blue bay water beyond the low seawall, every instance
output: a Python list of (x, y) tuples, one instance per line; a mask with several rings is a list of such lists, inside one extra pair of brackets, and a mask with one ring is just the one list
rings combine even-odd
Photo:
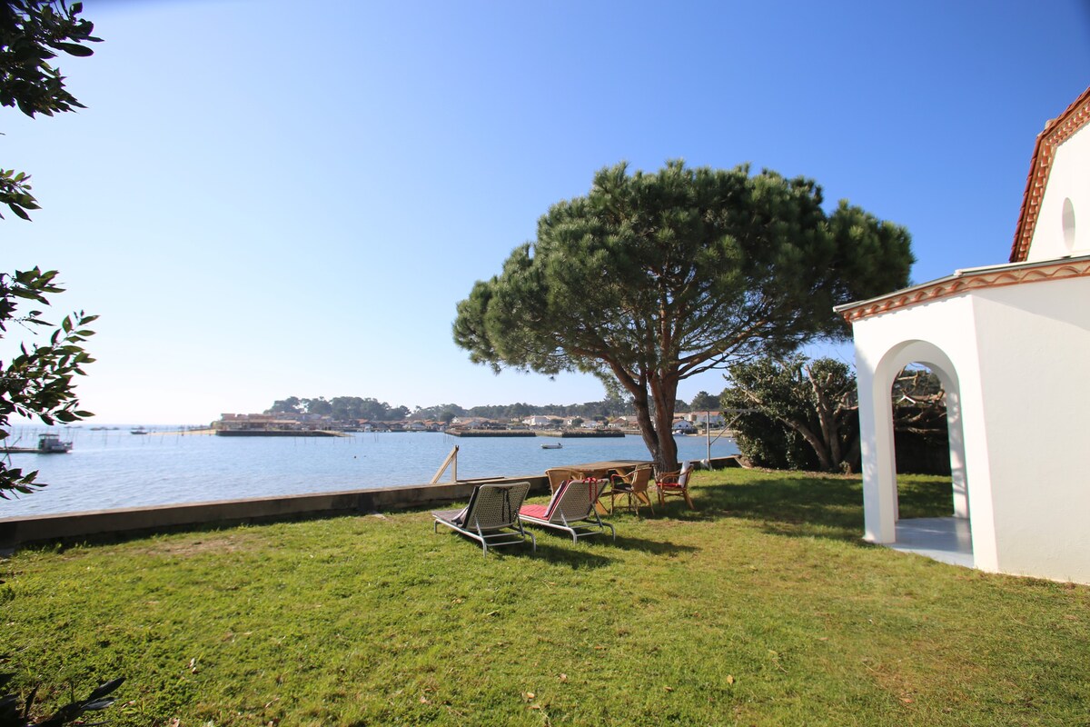
[[(16, 427), (21, 446), (35, 446), (46, 427)], [(542, 449), (544, 437), (459, 438), (434, 433), (355, 434), (350, 437), (215, 437), (129, 428), (66, 431), (66, 455), (10, 455), (11, 465), (39, 471), (48, 487), (0, 499), (0, 518), (109, 510), (240, 497), (324, 493), (427, 483), (458, 445), (459, 478), (541, 474), (546, 468), (602, 460), (647, 460), (637, 436), (564, 439)], [(703, 437), (678, 437), (679, 460), (706, 456)], [(14, 443), (13, 443), (14, 444)], [(719, 439), (712, 457), (737, 453)], [(444, 476), (449, 482), (450, 471)]]

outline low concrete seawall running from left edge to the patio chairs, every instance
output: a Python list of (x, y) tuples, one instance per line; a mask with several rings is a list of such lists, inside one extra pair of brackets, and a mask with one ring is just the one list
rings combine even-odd
[(380, 489), (354, 489), (339, 493), (251, 497), (217, 502), (160, 505), (122, 510), (65, 512), (28, 518), (0, 519), (0, 547), (12, 548), (65, 537), (104, 533), (155, 532), (207, 524), (233, 524), (290, 520), (292, 518), (432, 508), (468, 500), (482, 482), (529, 482), (531, 495), (547, 495), (548, 477), (496, 477), (437, 485), (404, 485)]

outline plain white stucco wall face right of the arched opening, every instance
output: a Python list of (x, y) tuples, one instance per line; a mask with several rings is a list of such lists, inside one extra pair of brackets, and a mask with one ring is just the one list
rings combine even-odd
[(1090, 582), (1090, 279), (971, 298), (998, 570)]

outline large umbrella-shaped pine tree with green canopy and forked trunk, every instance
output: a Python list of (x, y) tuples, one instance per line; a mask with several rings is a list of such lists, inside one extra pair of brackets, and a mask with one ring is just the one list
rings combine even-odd
[(619, 385), (656, 465), (674, 468), (678, 381), (843, 338), (833, 306), (907, 283), (905, 228), (822, 204), (814, 181), (744, 165), (603, 169), (586, 196), (553, 205), (500, 275), (473, 286), (455, 341), (497, 372), (580, 371)]

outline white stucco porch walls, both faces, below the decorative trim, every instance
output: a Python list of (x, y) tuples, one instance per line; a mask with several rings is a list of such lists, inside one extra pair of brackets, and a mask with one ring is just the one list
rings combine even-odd
[(868, 540), (895, 538), (888, 387), (925, 363), (958, 409), (976, 566), (1090, 583), (1088, 303), (1090, 279), (1046, 280), (853, 324)]

